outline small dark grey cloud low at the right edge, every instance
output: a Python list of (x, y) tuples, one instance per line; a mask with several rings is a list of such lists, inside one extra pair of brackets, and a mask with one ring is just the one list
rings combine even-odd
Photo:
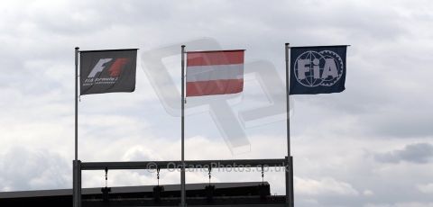
[(374, 159), (382, 163), (399, 163), (401, 161), (425, 164), (433, 160), (433, 145), (418, 143), (407, 145), (386, 153), (374, 155)]

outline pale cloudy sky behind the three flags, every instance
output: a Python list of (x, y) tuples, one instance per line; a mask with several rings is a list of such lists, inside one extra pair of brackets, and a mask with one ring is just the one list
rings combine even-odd
[[(138, 161), (180, 159), (181, 44), (246, 49), (243, 94), (187, 100), (187, 159), (287, 155), (284, 43), (350, 44), (345, 92), (291, 97), (296, 205), (431, 207), (431, 11), (429, 0), (2, 2), (0, 191), (71, 187), (75, 47), (139, 49), (136, 91), (81, 96), (78, 127), (82, 161)], [(232, 137), (239, 129), (244, 139)], [(265, 180), (283, 194), (276, 171)], [(105, 184), (102, 171), (83, 176), (85, 187)], [(161, 184), (179, 180), (161, 171)], [(108, 184), (156, 184), (156, 175), (110, 172)]]

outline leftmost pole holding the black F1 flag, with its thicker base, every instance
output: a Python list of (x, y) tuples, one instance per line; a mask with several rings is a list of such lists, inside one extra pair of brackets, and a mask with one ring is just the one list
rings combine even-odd
[(75, 48), (75, 158), (73, 162), (73, 206), (79, 207), (79, 164), (78, 164), (78, 53), (79, 48)]

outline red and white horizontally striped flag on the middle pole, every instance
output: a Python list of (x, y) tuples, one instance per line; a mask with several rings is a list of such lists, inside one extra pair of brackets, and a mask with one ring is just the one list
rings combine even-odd
[(187, 53), (187, 96), (236, 94), (244, 89), (244, 49)]

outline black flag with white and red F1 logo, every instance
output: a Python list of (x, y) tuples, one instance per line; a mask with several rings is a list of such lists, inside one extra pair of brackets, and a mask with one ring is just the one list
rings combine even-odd
[(133, 92), (137, 49), (80, 51), (80, 94)]

